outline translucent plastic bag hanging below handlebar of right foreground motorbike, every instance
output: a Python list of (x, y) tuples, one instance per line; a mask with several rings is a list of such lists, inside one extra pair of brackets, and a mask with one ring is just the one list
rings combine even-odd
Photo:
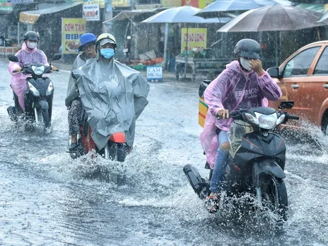
[(251, 133), (253, 127), (247, 122), (243, 122), (242, 120), (234, 120), (230, 126), (230, 131), (228, 132), (228, 139), (230, 142), (230, 154), (232, 158), (236, 152), (241, 148), (241, 139), (243, 139), (243, 135), (246, 133)]

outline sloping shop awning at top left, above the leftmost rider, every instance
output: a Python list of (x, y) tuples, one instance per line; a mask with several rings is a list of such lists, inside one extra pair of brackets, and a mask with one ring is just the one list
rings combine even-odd
[(19, 21), (22, 23), (27, 24), (34, 24), (38, 20), (41, 15), (44, 14), (53, 14), (55, 12), (59, 12), (62, 10), (67, 10), (69, 8), (73, 8), (77, 5), (82, 4), (81, 2), (74, 2), (74, 3), (63, 3), (61, 5), (55, 5), (49, 8), (44, 8), (41, 10), (33, 10), (27, 12), (20, 12)]

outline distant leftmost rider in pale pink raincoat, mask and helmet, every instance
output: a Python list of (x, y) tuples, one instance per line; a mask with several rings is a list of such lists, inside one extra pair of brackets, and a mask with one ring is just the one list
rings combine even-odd
[[(19, 61), (22, 61), (23, 64), (40, 62), (46, 66), (49, 66), (44, 52), (36, 48), (38, 41), (39, 38), (36, 32), (27, 31), (27, 33), (25, 33), (22, 49), (16, 53), (16, 57), (18, 57)], [(24, 95), (27, 92), (27, 76), (25, 76), (23, 73), (14, 75), (14, 72), (19, 72), (22, 70), (23, 64), (20, 62), (10, 61), (8, 70), (10, 74), (12, 74), (12, 81), (10, 83), (12, 90), (14, 90), (15, 94), (18, 96), (19, 105), (23, 109), (23, 112), (25, 112)], [(52, 66), (52, 70), (57, 70), (57, 68)]]

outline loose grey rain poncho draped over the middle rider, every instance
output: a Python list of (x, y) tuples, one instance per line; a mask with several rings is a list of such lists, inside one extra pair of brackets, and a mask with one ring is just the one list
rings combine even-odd
[(99, 149), (113, 133), (125, 133), (133, 146), (135, 121), (148, 104), (149, 84), (140, 72), (111, 59), (88, 59), (72, 73)]

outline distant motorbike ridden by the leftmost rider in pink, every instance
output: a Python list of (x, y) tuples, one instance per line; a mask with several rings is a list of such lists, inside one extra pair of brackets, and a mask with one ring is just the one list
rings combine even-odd
[[(61, 54), (57, 53), (53, 55), (53, 60), (61, 58)], [(15, 55), (9, 55), (8, 59), (13, 62), (20, 62)], [(46, 66), (41, 63), (23, 64), (23, 68), (20, 72), (14, 74), (23, 73), (28, 74), (31, 77), (27, 77), (26, 84), (28, 91), (25, 94), (25, 113), (18, 103), (18, 96), (14, 93), (14, 107), (8, 107), (7, 111), (10, 119), (17, 123), (18, 118), (27, 120), (25, 128), (29, 128), (33, 123), (42, 124), (44, 130), (51, 126), (51, 113), (53, 109), (53, 82), (48, 77), (42, 77), (43, 74), (58, 72), (51, 70), (50, 66)], [(59, 72), (58, 72), (59, 73)]]

